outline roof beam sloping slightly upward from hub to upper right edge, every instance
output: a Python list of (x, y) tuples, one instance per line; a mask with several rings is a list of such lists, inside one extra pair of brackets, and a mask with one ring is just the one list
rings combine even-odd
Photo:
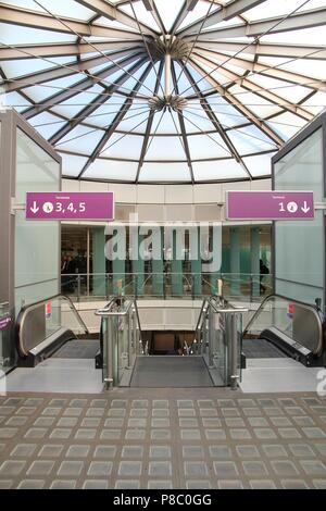
[(186, 39), (197, 39), (199, 41), (234, 37), (258, 37), (264, 34), (279, 34), (281, 32), (298, 30), (300, 28), (313, 28), (326, 24), (326, 8), (314, 9), (311, 11), (299, 12), (291, 16), (276, 16), (268, 20), (251, 22), (247, 24), (237, 24), (214, 30), (206, 30), (198, 36), (198, 34), (181, 35)]

